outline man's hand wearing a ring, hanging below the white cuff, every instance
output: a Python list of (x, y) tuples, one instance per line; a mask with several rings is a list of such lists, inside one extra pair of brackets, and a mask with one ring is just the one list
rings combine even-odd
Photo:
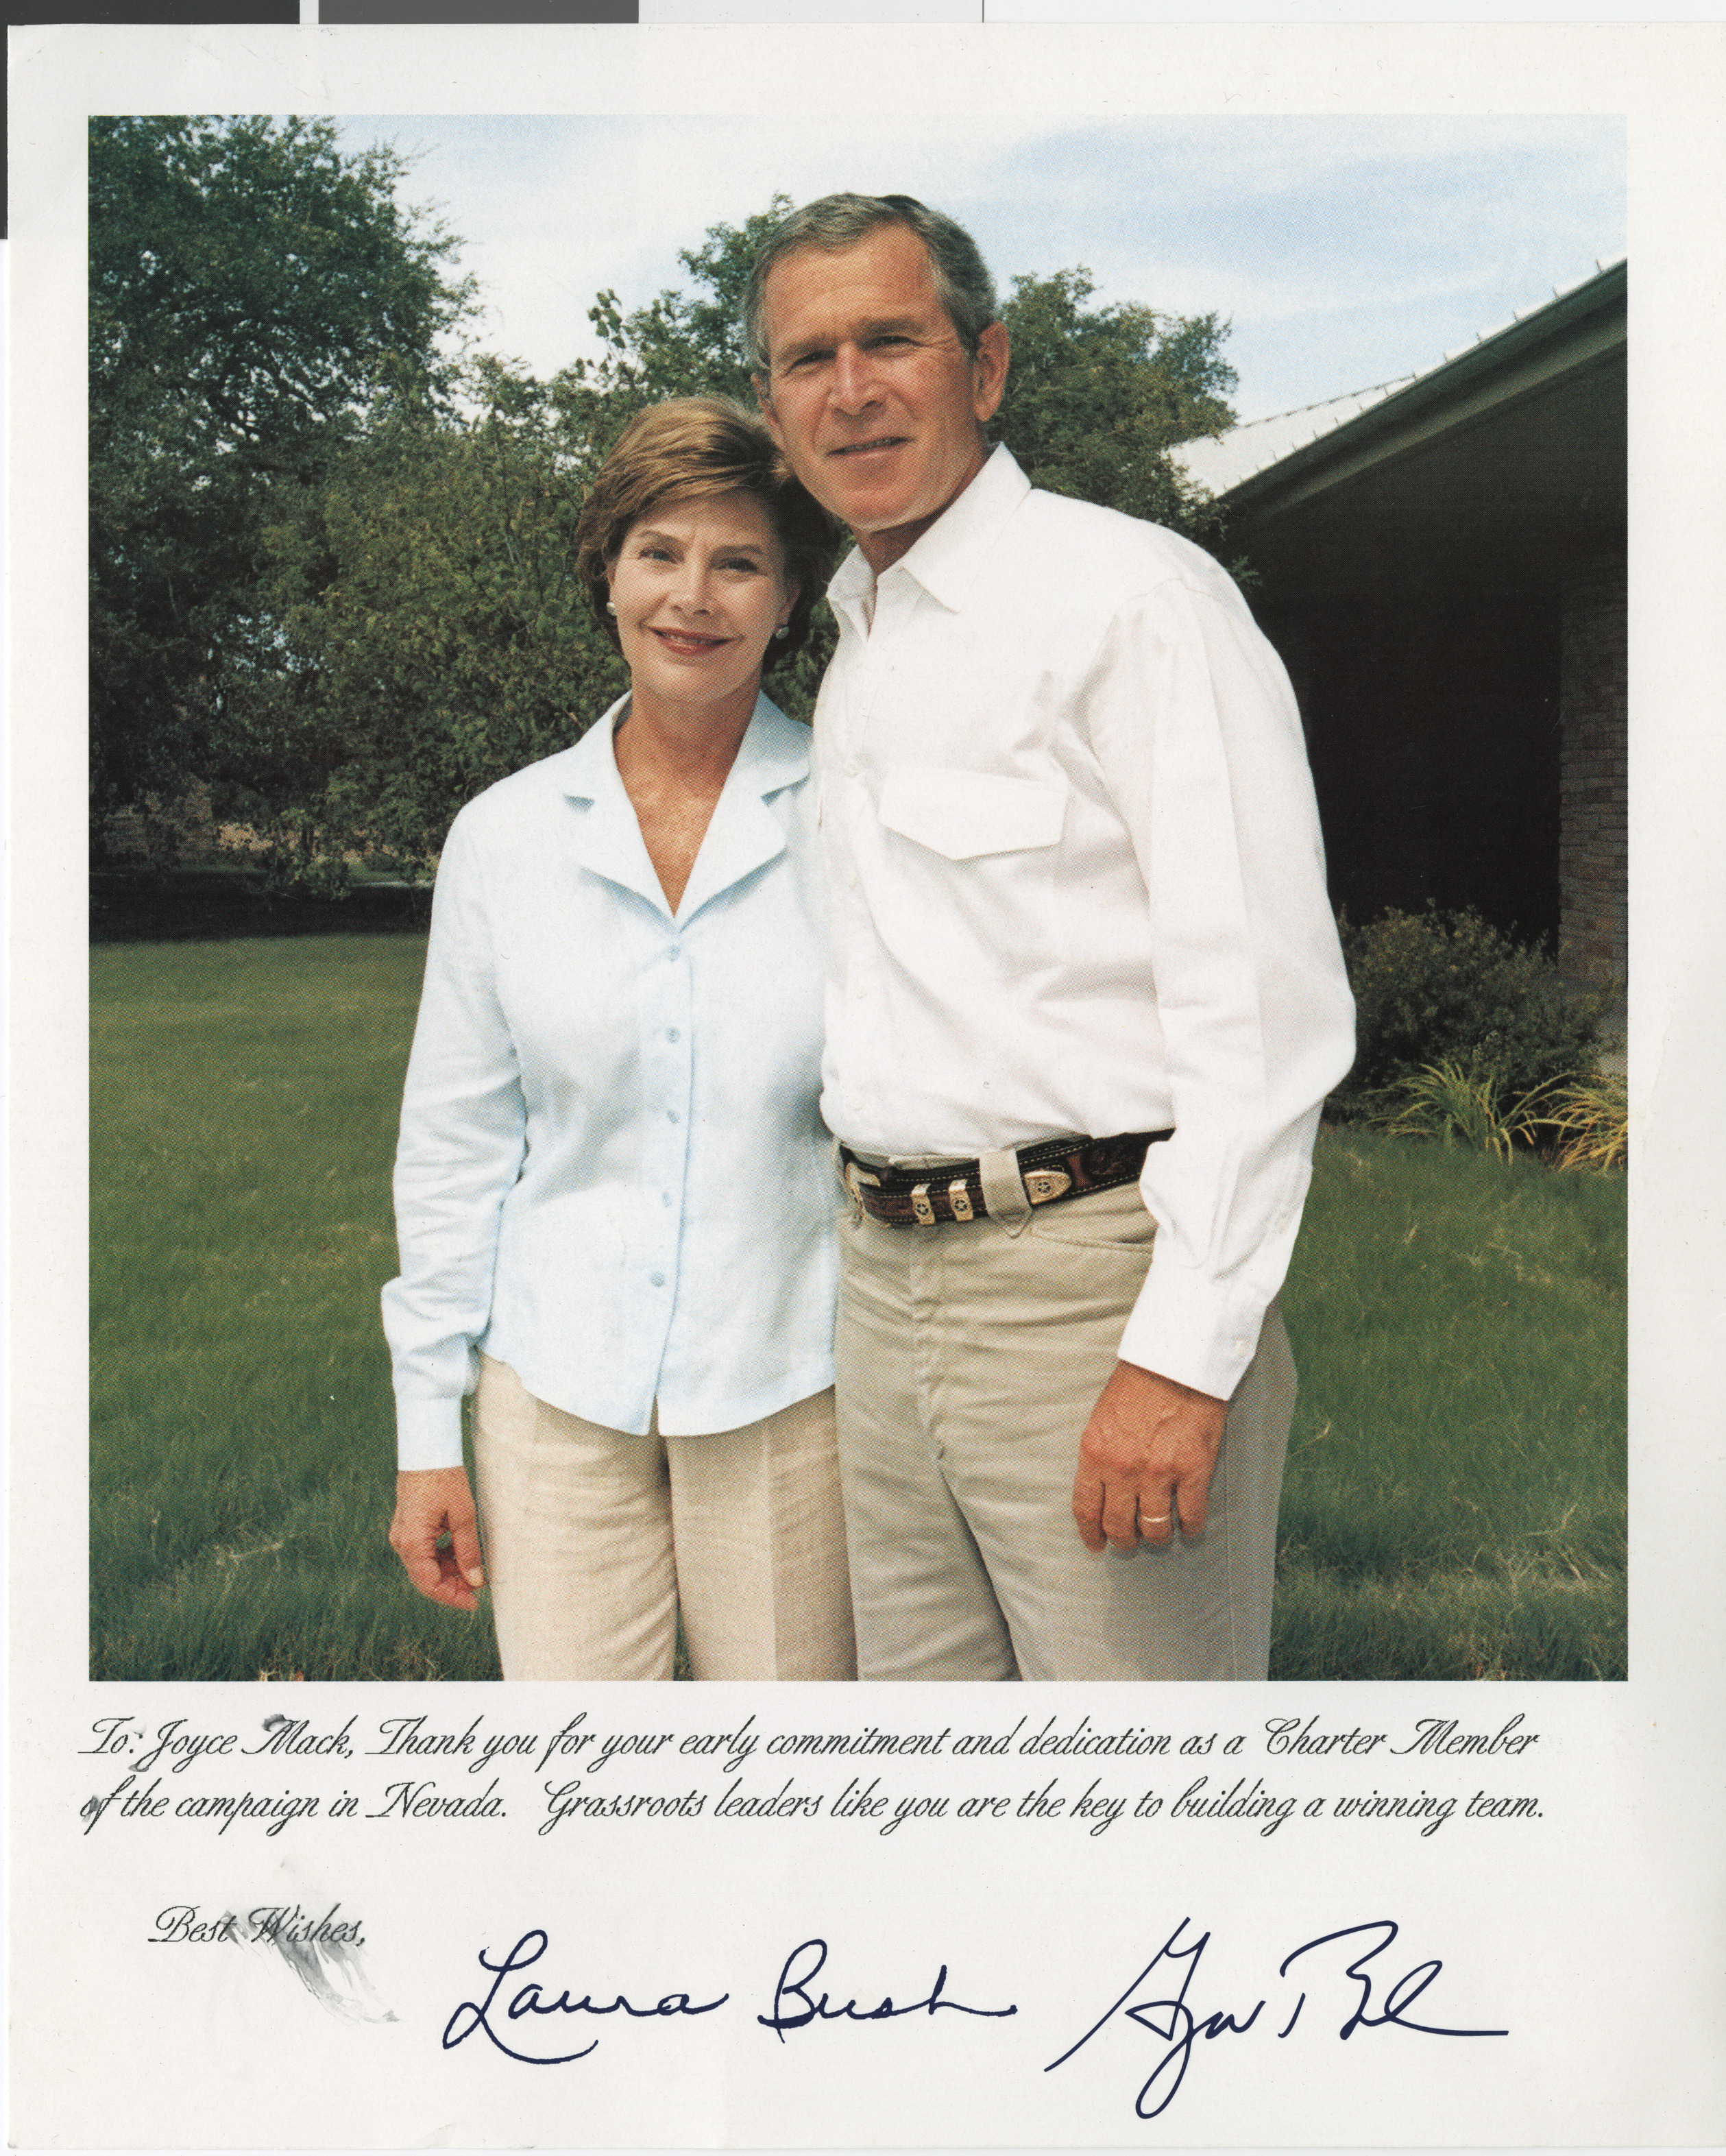
[[(1073, 1518), (1092, 1554), (1133, 1550), (1205, 1526), (1228, 1401), (1153, 1369), (1116, 1363), (1080, 1438)], [(1144, 1526), (1140, 1529), (1140, 1520)]]

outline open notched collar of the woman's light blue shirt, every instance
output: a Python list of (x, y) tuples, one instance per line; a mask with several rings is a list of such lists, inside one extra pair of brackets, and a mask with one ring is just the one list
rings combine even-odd
[[(582, 867), (634, 890), (664, 914), (666, 895), (642, 843), (634, 802), (623, 789), (612, 744), (627, 703), (627, 696), (618, 696), (610, 711), (565, 750), (558, 783), (569, 800), (588, 804), (573, 839)], [(808, 727), (787, 718), (769, 696), (756, 696), (737, 761), (726, 774), (713, 821), (700, 841), (690, 888), (677, 908), (679, 925), (739, 877), (784, 852), (784, 830), (765, 800), (806, 778), (808, 761)]]

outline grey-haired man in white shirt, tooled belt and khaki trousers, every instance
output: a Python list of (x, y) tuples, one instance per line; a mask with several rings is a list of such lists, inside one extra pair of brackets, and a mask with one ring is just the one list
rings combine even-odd
[(860, 1675), (1263, 1677), (1273, 1298), (1353, 1054), (1286, 675), (1207, 554), (989, 451), (950, 218), (808, 205), (746, 323), (858, 541), (815, 740)]

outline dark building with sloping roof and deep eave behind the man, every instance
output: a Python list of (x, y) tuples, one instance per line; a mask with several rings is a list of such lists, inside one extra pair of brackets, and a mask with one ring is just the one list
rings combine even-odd
[(1306, 718), (1332, 897), (1627, 966), (1625, 263), (1439, 364), (1179, 453)]

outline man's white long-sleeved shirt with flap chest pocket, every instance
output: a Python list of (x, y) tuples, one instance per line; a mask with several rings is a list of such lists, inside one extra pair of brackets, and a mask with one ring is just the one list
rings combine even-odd
[(1172, 1125), (1120, 1354), (1228, 1397), (1353, 1059), (1289, 677), (1209, 554), (1004, 448), (830, 599), (825, 1119), (890, 1158)]

